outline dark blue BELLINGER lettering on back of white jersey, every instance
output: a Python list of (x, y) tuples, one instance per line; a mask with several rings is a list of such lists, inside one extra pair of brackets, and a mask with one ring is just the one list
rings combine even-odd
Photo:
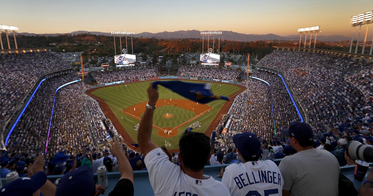
[(245, 172), (234, 177), (234, 181), (238, 189), (242, 189), (245, 186), (257, 183), (273, 183), (281, 186), (281, 174), (272, 171), (258, 171), (257, 173)]

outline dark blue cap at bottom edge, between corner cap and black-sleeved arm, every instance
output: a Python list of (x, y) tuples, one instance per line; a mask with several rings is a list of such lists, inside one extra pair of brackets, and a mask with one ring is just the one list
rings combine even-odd
[(55, 196), (91, 196), (94, 190), (93, 170), (80, 166), (62, 176), (58, 181)]

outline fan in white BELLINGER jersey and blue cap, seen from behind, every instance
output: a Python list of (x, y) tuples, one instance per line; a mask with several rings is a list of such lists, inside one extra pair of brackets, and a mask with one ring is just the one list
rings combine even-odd
[(283, 179), (275, 162), (258, 161), (261, 142), (254, 133), (244, 132), (233, 136), (240, 164), (231, 164), (225, 168), (222, 183), (234, 195), (270, 195), (281, 196)]

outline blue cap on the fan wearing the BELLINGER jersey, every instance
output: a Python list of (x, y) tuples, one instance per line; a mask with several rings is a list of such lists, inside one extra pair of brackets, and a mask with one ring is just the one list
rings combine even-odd
[(233, 143), (245, 157), (256, 157), (261, 152), (261, 142), (254, 133), (244, 132), (233, 136)]

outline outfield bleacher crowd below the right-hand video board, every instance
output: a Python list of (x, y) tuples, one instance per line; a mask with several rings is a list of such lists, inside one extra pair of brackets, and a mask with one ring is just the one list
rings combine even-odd
[(179, 68), (180, 76), (215, 78), (222, 80), (235, 80), (239, 74), (235, 69), (217, 69), (182, 66)]

